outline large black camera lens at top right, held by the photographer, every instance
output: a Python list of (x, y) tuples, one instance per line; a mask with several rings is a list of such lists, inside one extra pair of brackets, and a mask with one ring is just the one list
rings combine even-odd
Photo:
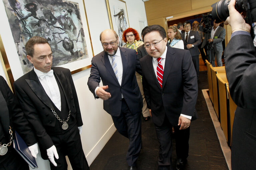
[(212, 16), (214, 19), (216, 19), (215, 23), (220, 23), (228, 18), (228, 2), (229, 0), (220, 0), (211, 6), (213, 8)]

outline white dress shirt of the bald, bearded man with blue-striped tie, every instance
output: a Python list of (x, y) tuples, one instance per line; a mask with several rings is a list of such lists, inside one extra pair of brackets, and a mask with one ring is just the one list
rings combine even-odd
[[(112, 57), (110, 57), (109, 55), (107, 55), (107, 57), (108, 57), (109, 62), (111, 64), (112, 60), (113, 60)], [(117, 48), (117, 51), (114, 55), (114, 58), (115, 58), (116, 67), (117, 67), (118, 83), (119, 83), (119, 85), (121, 85), (122, 76), (123, 76), (123, 64), (122, 64), (122, 58), (121, 58), (121, 53), (120, 53), (119, 47)], [(95, 93), (96, 96), (97, 96), (96, 91), (97, 91), (98, 87), (96, 87), (95, 90), (94, 90), (94, 93)], [(123, 98), (123, 95), (122, 95), (122, 98)]]

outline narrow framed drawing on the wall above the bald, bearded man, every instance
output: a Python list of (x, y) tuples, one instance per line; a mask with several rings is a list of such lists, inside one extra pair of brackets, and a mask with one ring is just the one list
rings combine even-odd
[(106, 0), (110, 28), (118, 35), (118, 45), (122, 47), (122, 33), (129, 28), (126, 3), (122, 0)]

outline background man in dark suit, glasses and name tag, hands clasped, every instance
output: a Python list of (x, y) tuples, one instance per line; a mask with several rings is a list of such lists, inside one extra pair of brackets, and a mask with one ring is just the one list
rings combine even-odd
[(184, 42), (184, 49), (189, 50), (192, 61), (197, 72), (197, 79), (199, 75), (199, 49), (198, 46), (201, 44), (201, 38), (198, 31), (191, 30), (191, 24), (189, 21), (183, 23), (183, 28), (185, 33), (181, 35), (181, 38)]

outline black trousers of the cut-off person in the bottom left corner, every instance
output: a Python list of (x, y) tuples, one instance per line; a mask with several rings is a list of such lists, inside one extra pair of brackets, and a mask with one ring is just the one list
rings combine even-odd
[(7, 155), (0, 156), (0, 159), (5, 157), (4, 161), (0, 161), (0, 170), (29, 170), (28, 164), (12, 147), (8, 147)]

